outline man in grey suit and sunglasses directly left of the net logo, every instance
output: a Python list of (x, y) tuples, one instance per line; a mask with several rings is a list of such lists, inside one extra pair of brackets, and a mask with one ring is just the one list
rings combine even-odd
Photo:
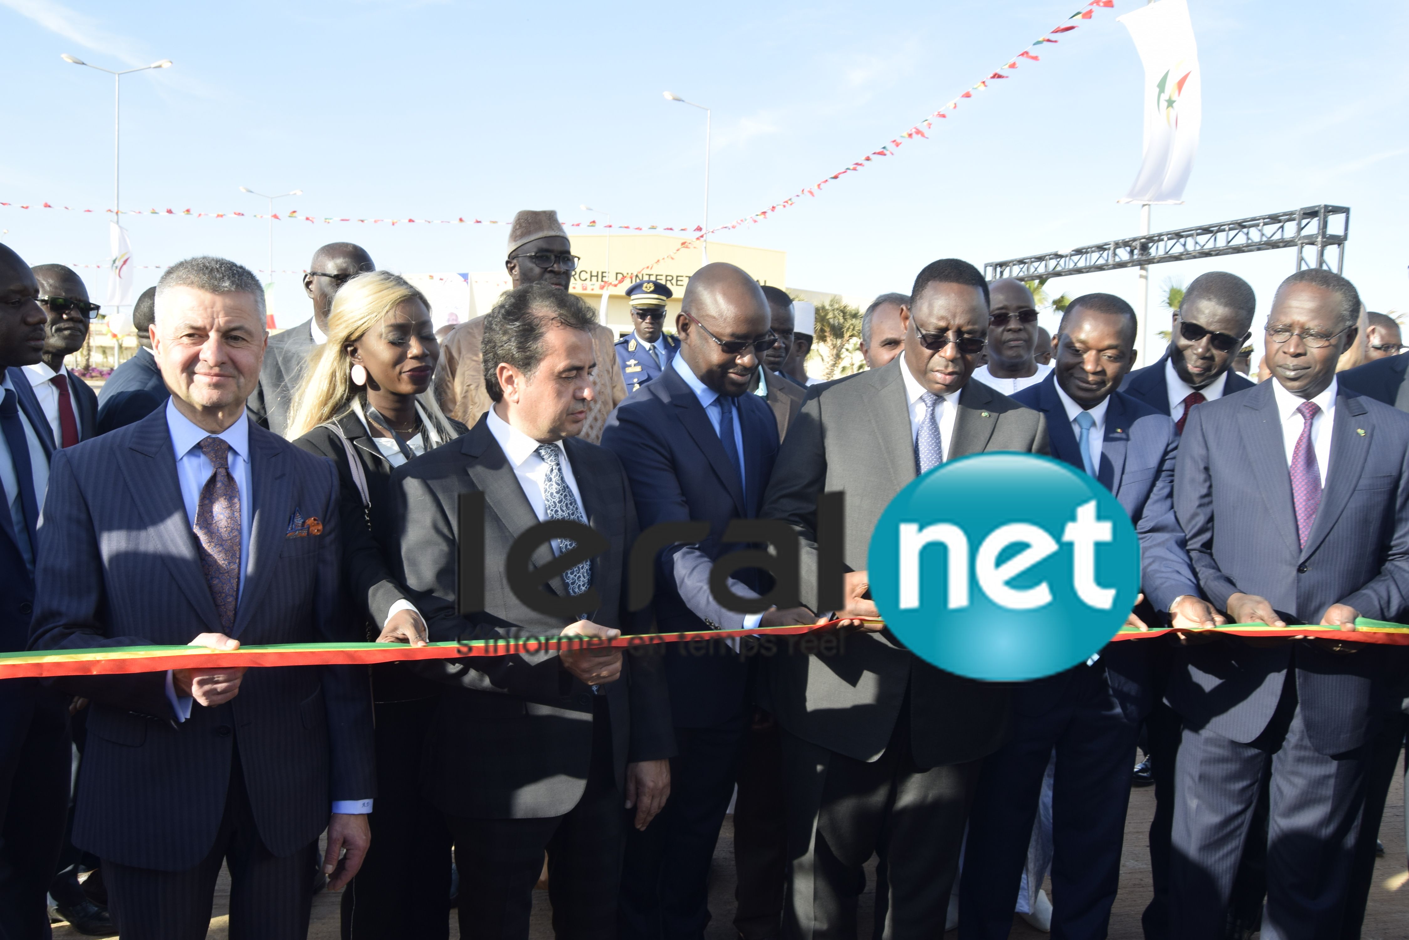
[[(910, 296), (903, 354), (812, 392), (764, 499), (764, 517), (797, 533), (802, 600), (819, 613), (827, 613), (816, 565), (823, 492), (847, 499), (837, 613), (875, 617), (871, 530), (902, 488), (948, 458), (1047, 452), (1040, 413), (969, 381), (988, 333), (983, 275), (964, 261), (936, 261)], [(785, 934), (855, 937), (872, 854), (888, 871), (875, 936), (943, 934), (979, 761), (1007, 727), (1007, 689), (943, 672), (879, 627), (850, 633), (836, 655), (779, 655), (769, 667), (789, 793)]]

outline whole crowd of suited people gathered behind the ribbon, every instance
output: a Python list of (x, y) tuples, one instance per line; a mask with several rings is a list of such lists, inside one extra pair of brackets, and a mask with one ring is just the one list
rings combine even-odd
[[(0, 681), (0, 936), (48, 936), (49, 895), (87, 933), (204, 937), (228, 867), (231, 936), (303, 937), (313, 893), (347, 886), (344, 937), (445, 937), (454, 906), (462, 936), (524, 939), (547, 879), (559, 937), (699, 939), (733, 805), (743, 940), (852, 940), (876, 857), (876, 937), (999, 939), (1017, 912), (1099, 940), (1141, 778), (1148, 940), (1360, 936), (1409, 657), (1354, 629), (1409, 616), (1409, 357), (1348, 280), (1275, 289), (1254, 383), (1257, 299), (1231, 273), (1189, 285), (1137, 369), (1120, 297), (1071, 300), (1050, 335), (1022, 282), (941, 259), (865, 310), (864, 371), (817, 382), (813, 307), (737, 266), (699, 269), (669, 324), (669, 287), (633, 285), (617, 337), (568, 292), (555, 213), (520, 213), (506, 254), (513, 289), (448, 335), (352, 244), (314, 254), (311, 319), (272, 337), (249, 271), (190, 258), (94, 396), (63, 365), (99, 309), (82, 279), (0, 245), (0, 650), (841, 626)], [(906, 650), (869, 599), (871, 530), (917, 475), (995, 451), (1106, 486), (1141, 545), (1129, 623), (1177, 633), (1024, 684)], [(555, 520), (595, 554), (537, 545), (528, 603), (511, 545)], [(759, 548), (740, 520), (796, 533), (800, 603), (714, 571)], [(696, 528), (652, 545), (641, 609), (627, 561), (659, 523)], [(1343, 636), (1195, 633), (1253, 621)]]

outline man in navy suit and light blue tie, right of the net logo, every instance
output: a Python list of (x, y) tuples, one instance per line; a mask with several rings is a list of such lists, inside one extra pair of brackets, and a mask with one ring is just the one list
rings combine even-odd
[[(1062, 314), (1053, 375), (1013, 396), (1047, 417), (1051, 452), (1112, 492), (1140, 537), (1146, 603), (1136, 626), (1212, 627), (1174, 519), (1174, 421), (1116, 390), (1136, 358), (1134, 310), (1120, 297), (1078, 297)], [(983, 761), (969, 816), (960, 899), (961, 940), (1002, 939), (1027, 857), (1048, 757), (1053, 786), (1051, 932), (1102, 937), (1120, 881), (1140, 722), (1154, 703), (1150, 644), (1107, 644), (1099, 658), (1013, 691), (1013, 736)]]

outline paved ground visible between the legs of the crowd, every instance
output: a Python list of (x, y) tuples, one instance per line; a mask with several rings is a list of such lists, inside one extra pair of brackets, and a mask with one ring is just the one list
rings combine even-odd
[[(1409, 872), (1405, 871), (1405, 792), (1402, 778), (1396, 775), (1394, 788), (1389, 791), (1389, 800), (1385, 806), (1385, 820), (1381, 826), (1381, 840), (1385, 843), (1385, 857), (1375, 867), (1374, 889), (1370, 895), (1370, 910), (1365, 916), (1363, 940), (1403, 940), (1409, 936)], [(1126, 823), (1126, 847), (1120, 874), (1120, 896), (1116, 898), (1115, 913), (1110, 920), (1110, 940), (1143, 940), (1140, 932), (1140, 912), (1150, 899), (1150, 857), (1147, 853), (1146, 833), (1150, 827), (1150, 815), (1154, 812), (1154, 792), (1151, 789), (1137, 789), (1130, 796), (1130, 816)], [(710, 923), (706, 937), (709, 940), (734, 940), (730, 924), (734, 909), (734, 843), (731, 819), (726, 822), (720, 834), (719, 846), (714, 848), (714, 872), (710, 885), (710, 909), (714, 912), (714, 922)], [(875, 884), (872, 867), (869, 884)], [(225, 891), (228, 881), (221, 877), (216, 896), (217, 916), (210, 924), (209, 940), (225, 940), (227, 922)], [(1050, 888), (1048, 888), (1050, 889)], [(534, 896), (534, 924), (533, 940), (551, 940), (552, 929), (548, 922), (548, 896), (537, 893)], [(868, 893), (862, 899), (862, 923), (869, 924), (872, 898)], [(68, 926), (55, 927), (54, 936), (58, 940), (76, 939), (80, 934)], [(313, 929), (309, 932), (313, 940), (337, 940), (338, 937), (338, 898), (323, 893), (313, 902)], [(449, 936), (458, 940), (459, 930), (451, 917)], [(955, 934), (948, 934), (955, 936)], [(1037, 930), (1013, 919), (1013, 933), (1010, 937), (1045, 937)], [(869, 940), (871, 932), (862, 927), (859, 940)]]

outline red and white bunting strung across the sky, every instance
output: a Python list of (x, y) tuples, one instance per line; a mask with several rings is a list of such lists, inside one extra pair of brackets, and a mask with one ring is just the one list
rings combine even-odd
[[(1055, 28), (1044, 32), (1036, 41), (1033, 41), (1031, 44), (1029, 44), (1027, 47), (1024, 47), (1020, 52), (1017, 52), (1017, 55), (1009, 56), (1005, 61), (1003, 65), (999, 65), (996, 69), (993, 69), (992, 72), (989, 72), (985, 78), (981, 78), (978, 80), (978, 83), (971, 85), (964, 92), (961, 92), (960, 94), (957, 94), (955, 97), (950, 99), (947, 103), (941, 104), (938, 109), (936, 109), (934, 111), (931, 111), (929, 116), (926, 116), (924, 118), (921, 118), (921, 120), (916, 121), (914, 124), (912, 124), (903, 132), (892, 137), (889, 141), (883, 142), (876, 149), (869, 151), (868, 154), (865, 154), (859, 159), (852, 161), (847, 166), (843, 166), (836, 173), (831, 173), (830, 176), (826, 176), (826, 178), (820, 179), (819, 182), (813, 183), (812, 186), (803, 186), (802, 189), (799, 189), (796, 193), (793, 193), (788, 199), (783, 199), (781, 202), (776, 202), (776, 203), (768, 206), (768, 209), (762, 209), (762, 210), (759, 210), (757, 213), (752, 213), (750, 216), (741, 216), (740, 218), (735, 218), (734, 221), (726, 223), (723, 225), (716, 225), (714, 228), (710, 228), (707, 233), (704, 231), (703, 225), (659, 225), (659, 224), (655, 224), (655, 225), (616, 224), (616, 225), (612, 225), (612, 224), (607, 224), (607, 223), (599, 224), (596, 220), (590, 220), (590, 221), (585, 221), (585, 223), (583, 221), (565, 223), (565, 225), (568, 228), (612, 228), (612, 230), (616, 230), (616, 231), (641, 231), (641, 233), (648, 233), (648, 231), (666, 233), (666, 231), (669, 231), (669, 233), (686, 233), (686, 234), (689, 234), (689, 235), (693, 237), (693, 241), (699, 241), (699, 240), (704, 238), (706, 235), (712, 235), (712, 234), (719, 233), (719, 231), (731, 231), (731, 230), (737, 230), (737, 228), (740, 228), (743, 225), (757, 225), (758, 223), (766, 221), (769, 217), (778, 214), (779, 211), (796, 206), (797, 202), (803, 196), (814, 199), (821, 192), (823, 186), (827, 186), (830, 183), (834, 183), (834, 182), (840, 180), (844, 175), (847, 175), (847, 173), (858, 173), (862, 169), (865, 169), (868, 165), (872, 165), (874, 161), (876, 161), (878, 158), (895, 156), (896, 151), (899, 151), (900, 147), (903, 147), (906, 142), (913, 142), (916, 140), (929, 140), (929, 134), (926, 134), (926, 131), (934, 130), (934, 121), (947, 120), (950, 117), (951, 111), (955, 111), (960, 107), (960, 104), (964, 103), (965, 100), (972, 99), (976, 92), (986, 92), (991, 87), (993, 87), (995, 82), (1000, 82), (1003, 79), (1013, 78), (1010, 75), (1010, 72), (1016, 70), (1020, 65), (1029, 65), (1029, 63), (1033, 63), (1033, 62), (1041, 62), (1041, 56), (1036, 55), (1033, 52), (1033, 49), (1047, 47), (1048, 44), (1060, 42), (1060, 39), (1057, 39), (1055, 37), (1067, 34), (1067, 32), (1071, 32), (1072, 30), (1078, 28), (1078, 25), (1081, 25), (1081, 24), (1076, 23), (1076, 21), (1091, 20), (1092, 16), (1093, 16), (1093, 13), (1098, 8), (1110, 8), (1113, 6), (1115, 6), (1115, 0), (1089, 0), (1086, 3), (1086, 6), (1084, 6), (1081, 10), (1078, 10), (1074, 14), (1071, 14), (1069, 17), (1067, 17), (1067, 20), (1064, 20), (1061, 25), (1058, 25), (1058, 27), (1055, 27)], [(14, 206), (14, 203), (0, 202), (0, 207), (11, 207), (11, 206)], [(65, 211), (79, 211), (79, 213), (94, 213), (94, 211), (97, 211), (97, 210), (93, 210), (93, 209), (72, 209), (70, 206), (54, 206), (52, 203), (46, 203), (46, 202), (41, 203), (38, 206), (34, 206), (32, 203), (31, 204), (20, 204), (18, 209), (61, 209), (61, 210), (65, 210)], [(101, 211), (104, 211), (104, 213), (113, 213), (111, 209), (104, 209)], [(307, 213), (300, 214), (297, 210), (290, 210), (287, 213), (279, 214), (279, 213), (238, 213), (238, 211), (192, 211), (190, 209), (183, 209), (180, 211), (178, 211), (175, 209), (165, 209), (165, 210), (158, 210), (158, 209), (149, 209), (149, 210), (124, 209), (124, 210), (120, 210), (120, 213), (124, 214), (124, 216), (182, 216), (182, 217), (193, 217), (193, 218), (265, 218), (265, 220), (275, 220), (275, 221), (297, 221), (297, 220), (303, 220), (303, 221), (310, 223), (310, 224), (317, 224), (317, 223), (323, 223), (323, 224), (359, 223), (359, 224), (378, 225), (378, 224), (382, 224), (382, 223), (387, 223), (387, 224), (390, 224), (393, 227), (395, 225), (409, 225), (409, 224), (418, 224), (418, 225), (437, 225), (437, 224), (438, 225), (448, 225), (448, 224), (507, 225), (509, 224), (509, 221), (502, 221), (502, 220), (496, 220), (496, 218), (476, 218), (473, 216), (469, 216), (469, 217), (457, 216), (455, 218), (411, 218), (411, 217), (406, 217), (406, 218), (356, 218), (356, 217), (351, 217), (351, 216), (342, 216), (342, 217), (337, 217), (337, 216), (310, 216)], [(669, 258), (674, 258), (676, 254), (679, 254), (679, 251), (682, 248), (685, 248), (688, 245), (689, 245), (689, 242), (682, 244), (679, 248), (676, 248), (675, 251), (672, 251), (669, 255), (662, 256), (661, 259), (658, 259), (654, 264), (659, 264), (661, 261), (668, 261)], [(643, 268), (643, 271), (645, 271), (645, 268)], [(620, 285), (621, 282), (623, 282), (623, 279), (619, 279), (619, 280), (613, 282), (612, 286)]]

